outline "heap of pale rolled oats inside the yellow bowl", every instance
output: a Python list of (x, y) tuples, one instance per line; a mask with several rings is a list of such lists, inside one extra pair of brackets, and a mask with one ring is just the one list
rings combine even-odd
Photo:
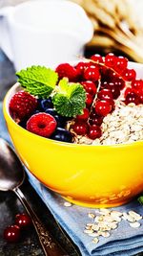
[(116, 100), (116, 108), (103, 119), (102, 136), (89, 139), (76, 136), (75, 143), (88, 145), (113, 145), (143, 140), (143, 105), (129, 104)]

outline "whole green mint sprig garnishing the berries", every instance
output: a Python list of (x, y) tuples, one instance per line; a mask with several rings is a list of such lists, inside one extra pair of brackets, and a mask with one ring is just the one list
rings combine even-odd
[(74, 117), (83, 113), (86, 106), (86, 92), (78, 82), (64, 78), (58, 81), (58, 74), (50, 68), (31, 66), (16, 73), (22, 87), (38, 98), (47, 99), (51, 95), (57, 113)]

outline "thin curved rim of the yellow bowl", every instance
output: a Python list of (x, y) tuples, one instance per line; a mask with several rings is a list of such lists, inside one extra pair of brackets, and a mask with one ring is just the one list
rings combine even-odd
[[(141, 63), (134, 63), (129, 61), (130, 64), (137, 64), (137, 65), (142, 65)], [(20, 130), (22, 130), (24, 133), (28, 134), (31, 137), (35, 137), (36, 139), (40, 140), (40, 141), (45, 141), (47, 143), (51, 143), (51, 144), (56, 144), (56, 145), (61, 145), (61, 146), (70, 146), (73, 148), (126, 148), (126, 147), (133, 147), (133, 145), (141, 145), (143, 144), (143, 140), (139, 140), (139, 141), (134, 141), (131, 143), (119, 143), (119, 144), (112, 144), (112, 145), (88, 145), (88, 144), (77, 144), (77, 143), (69, 143), (69, 142), (62, 142), (62, 141), (56, 141), (56, 140), (52, 140), (51, 138), (46, 138), (46, 137), (42, 137), (40, 135), (37, 135), (35, 133), (32, 133), (31, 131), (20, 127), (18, 124), (15, 123), (15, 121), (12, 119), (12, 117), (10, 116), (10, 111), (9, 111), (9, 103), (10, 103), (10, 99), (11, 99), (11, 95), (13, 95), (16, 91), (22, 90), (23, 88), (20, 86), (19, 82), (14, 83), (10, 89), (8, 90), (8, 92), (6, 93), (5, 97), (4, 97), (4, 101), (3, 101), (3, 113), (4, 113), (4, 117), (5, 120), (7, 121), (6, 116), (8, 117), (8, 119), (10, 120), (10, 124), (15, 127), (18, 128)], [(6, 122), (7, 123), (7, 122)]]

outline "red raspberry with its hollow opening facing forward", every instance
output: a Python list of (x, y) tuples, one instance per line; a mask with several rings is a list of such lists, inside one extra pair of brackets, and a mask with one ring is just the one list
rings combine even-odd
[(56, 125), (53, 116), (41, 112), (31, 116), (27, 122), (27, 129), (32, 133), (49, 138), (55, 130)]

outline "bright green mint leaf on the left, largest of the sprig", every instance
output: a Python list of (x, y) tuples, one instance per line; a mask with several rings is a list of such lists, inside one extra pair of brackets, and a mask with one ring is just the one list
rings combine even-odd
[(16, 76), (26, 91), (39, 98), (48, 98), (58, 80), (56, 72), (43, 66), (31, 66)]

